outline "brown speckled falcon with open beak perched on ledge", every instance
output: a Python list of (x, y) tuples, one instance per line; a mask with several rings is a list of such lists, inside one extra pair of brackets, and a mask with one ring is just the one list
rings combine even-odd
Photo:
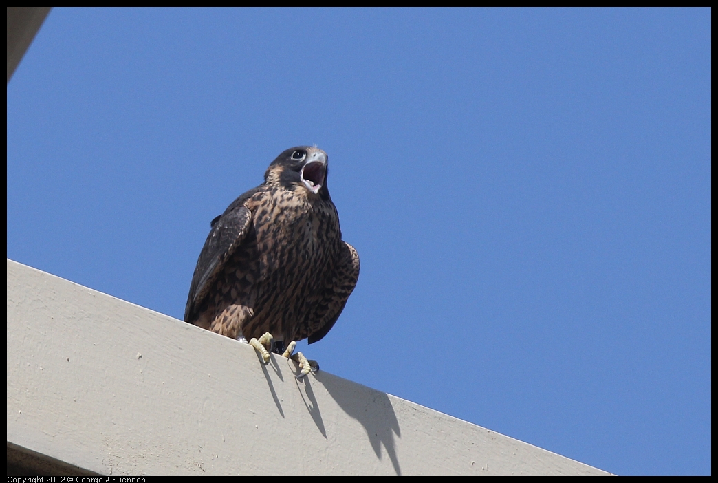
[(264, 183), (211, 221), (185, 307), (185, 322), (251, 344), (264, 364), (270, 351), (294, 359), (298, 378), (319, 364), (294, 354), (297, 341), (327, 335), (359, 277), (327, 187), (328, 160), (317, 147), (286, 149)]

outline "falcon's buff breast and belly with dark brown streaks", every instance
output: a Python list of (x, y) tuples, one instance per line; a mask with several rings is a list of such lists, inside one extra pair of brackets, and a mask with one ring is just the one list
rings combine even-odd
[(256, 306), (243, 332), (246, 337), (269, 331), (278, 340), (304, 339), (339, 256), (339, 218), (333, 203), (318, 197), (276, 190), (257, 193), (253, 201), (264, 196), (271, 202), (256, 203), (253, 216), (259, 259)]

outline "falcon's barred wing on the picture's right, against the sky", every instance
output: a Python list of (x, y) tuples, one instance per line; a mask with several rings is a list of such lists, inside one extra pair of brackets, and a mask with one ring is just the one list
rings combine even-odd
[[(335, 268), (332, 280), (325, 288), (325, 296), (322, 303), (317, 305), (314, 311), (314, 321), (319, 321), (316, 329), (309, 334), (309, 344), (319, 341), (326, 336), (334, 323), (344, 310), (349, 295), (357, 285), (359, 278), (359, 254), (347, 242), (342, 242), (340, 262)], [(314, 326), (314, 323), (312, 323)]]

